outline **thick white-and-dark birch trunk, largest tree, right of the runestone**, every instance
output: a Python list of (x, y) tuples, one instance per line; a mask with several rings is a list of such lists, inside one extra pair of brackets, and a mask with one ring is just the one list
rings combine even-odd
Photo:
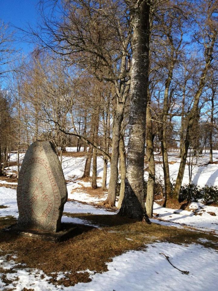
[[(125, 196), (120, 215), (147, 218), (144, 201), (144, 150), (149, 68), (149, 10), (147, 1), (134, 1), (129, 142)], [(149, 219), (147, 220), (148, 222)]]

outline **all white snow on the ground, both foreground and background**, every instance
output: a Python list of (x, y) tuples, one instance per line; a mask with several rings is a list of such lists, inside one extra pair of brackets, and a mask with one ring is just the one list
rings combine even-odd
[[(75, 148), (68, 149), (74, 151)], [(24, 154), (21, 155), (21, 158)], [(11, 160), (16, 159), (16, 154), (11, 154)], [(155, 155), (157, 162), (161, 162), (160, 156)], [(214, 161), (218, 159), (218, 152), (214, 153)], [(175, 179), (179, 168), (179, 158), (177, 153), (169, 153), (171, 178)], [(205, 154), (197, 161), (193, 168), (193, 182), (199, 186), (217, 185), (218, 186), (218, 164), (207, 164), (209, 155)], [(74, 201), (68, 201), (64, 206), (66, 213), (62, 217), (62, 222), (74, 222), (77, 224), (87, 224), (94, 227), (90, 221), (76, 217), (69, 217), (67, 213), (93, 213), (93, 214), (115, 214), (104, 208), (98, 208), (93, 203), (98, 203), (105, 197), (93, 197), (89, 195), (84, 187), (90, 187), (90, 182), (78, 180), (83, 174), (85, 164), (84, 157), (64, 157), (63, 172), (67, 183), (68, 198)], [(10, 167), (8, 172), (16, 170), (16, 166)], [(162, 164), (156, 164), (158, 178), (163, 176)], [(103, 161), (101, 157), (97, 158), (97, 175), (103, 176)], [(147, 172), (145, 172), (145, 177)], [(107, 184), (110, 178), (110, 165), (108, 165)], [(189, 180), (188, 166), (185, 170), (183, 184)], [(5, 183), (5, 182), (1, 182)], [(97, 180), (101, 186), (101, 179)], [(82, 187), (83, 186), (83, 187)], [(72, 193), (71, 193), (72, 192)], [(76, 201), (75, 201), (76, 200)], [(86, 202), (83, 204), (81, 202)], [(92, 202), (92, 205), (89, 204)], [(16, 190), (0, 187), (0, 206), (8, 206), (0, 209), (0, 217), (15, 216), (18, 217), (18, 208), (16, 203)], [(200, 201), (193, 202), (189, 206), (190, 211), (180, 209), (163, 208), (154, 203), (155, 219), (153, 223), (163, 224), (165, 226), (176, 226), (179, 228), (191, 227), (193, 231), (210, 232), (211, 236), (218, 236), (218, 207), (205, 206)], [(209, 212), (215, 213), (212, 216)], [(218, 244), (218, 239), (217, 239)], [(161, 255), (166, 254), (170, 262), (180, 270), (188, 271), (188, 274), (181, 273), (180, 270), (173, 268), (167, 259)], [(13, 253), (11, 254), (14, 255)], [(190, 245), (177, 245), (167, 242), (155, 242), (145, 246), (144, 250), (128, 251), (121, 256), (114, 257), (112, 262), (107, 263), (108, 271), (96, 273), (95, 270), (88, 271), (89, 283), (78, 283), (75, 286), (64, 287), (54, 286), (51, 279), (40, 269), (20, 268), (16, 256), (8, 260), (7, 256), (1, 256), (0, 249), (0, 267), (10, 270), (6, 279), (12, 279), (12, 283), (5, 286), (0, 273), (0, 290), (13, 289), (22, 291), (24, 288), (35, 291), (44, 290), (87, 290), (87, 291), (216, 291), (218, 278), (216, 271), (218, 269), (218, 252), (212, 248), (206, 248), (201, 244), (193, 243)], [(1, 272), (1, 271), (0, 271)], [(64, 273), (60, 273), (60, 278), (64, 278)]]

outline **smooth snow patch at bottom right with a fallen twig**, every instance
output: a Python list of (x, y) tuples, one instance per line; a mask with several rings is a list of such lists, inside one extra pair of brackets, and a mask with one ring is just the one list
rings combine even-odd
[[(190, 273), (185, 275), (174, 269), (160, 253), (169, 256), (174, 266)], [(214, 270), (217, 267), (218, 253), (213, 249), (198, 244), (154, 243), (145, 251), (129, 251), (115, 257), (107, 263), (107, 272), (96, 273), (91, 276), (90, 283), (78, 283), (68, 290), (156, 291), (161, 288), (162, 291), (215, 291), (218, 278)]]

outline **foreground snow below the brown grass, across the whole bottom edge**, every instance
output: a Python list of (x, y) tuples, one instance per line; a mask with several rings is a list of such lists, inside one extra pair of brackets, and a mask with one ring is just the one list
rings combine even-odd
[[(169, 257), (173, 266), (188, 271), (183, 274), (173, 268), (167, 259)], [(211, 258), (213, 260), (211, 261)], [(214, 272), (218, 269), (218, 253), (214, 249), (205, 248), (199, 244), (177, 245), (174, 243), (153, 243), (144, 250), (128, 251), (113, 258), (107, 263), (107, 272), (96, 273), (94, 270), (81, 270), (88, 272), (92, 279), (88, 283), (78, 283), (75, 286), (54, 286), (50, 278), (39, 269), (19, 269), (14, 261), (7, 261), (0, 257), (0, 266), (11, 269), (7, 279), (12, 279), (7, 288), (35, 291), (64, 290), (64, 291), (216, 291), (218, 277)], [(2, 264), (3, 261), (3, 264)], [(68, 273), (59, 272), (58, 278), (64, 278)], [(0, 287), (4, 286), (0, 275)]]

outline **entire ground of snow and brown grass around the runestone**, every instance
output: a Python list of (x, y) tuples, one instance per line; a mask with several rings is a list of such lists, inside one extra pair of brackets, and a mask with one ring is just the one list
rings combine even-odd
[[(98, 186), (91, 190), (82, 176), (85, 156), (74, 153), (63, 158), (68, 188), (62, 222), (77, 225), (75, 235), (62, 243), (0, 236), (0, 290), (217, 290), (218, 207), (202, 201), (186, 210), (163, 208), (161, 197), (154, 203), (154, 219), (147, 225), (117, 216), (116, 209), (99, 206), (107, 197), (101, 190), (103, 161), (97, 158)], [(170, 153), (170, 174), (175, 179), (179, 158)], [(24, 153), (21, 157), (24, 156)], [(11, 162), (16, 154), (11, 154)], [(162, 179), (161, 158), (155, 155), (157, 179)], [(214, 160), (218, 159), (215, 152)], [(218, 165), (210, 165), (208, 153), (193, 167), (193, 182), (218, 185)], [(0, 228), (18, 217), (16, 166), (0, 181)], [(108, 165), (108, 179), (110, 164)], [(147, 176), (145, 165), (145, 177)], [(188, 182), (188, 166), (183, 183)]]

